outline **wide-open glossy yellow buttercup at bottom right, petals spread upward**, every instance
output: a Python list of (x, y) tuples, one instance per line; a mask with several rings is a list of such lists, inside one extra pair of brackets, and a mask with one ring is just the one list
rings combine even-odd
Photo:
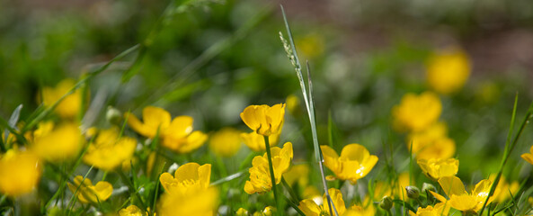
[[(439, 184), (444, 190), (444, 193), (449, 197), (449, 201), (447, 201), (439, 193), (431, 192), (440, 202), (449, 203), (452, 208), (458, 211), (476, 212), (483, 207), (483, 203), (491, 190), (492, 182), (488, 179), (482, 180), (478, 184), (475, 184), (475, 188), (471, 193), (466, 193), (465, 185), (457, 176), (441, 177)], [(493, 202), (494, 197), (498, 194), (499, 191), (496, 190), (493, 196), (489, 198), (487, 204)]]

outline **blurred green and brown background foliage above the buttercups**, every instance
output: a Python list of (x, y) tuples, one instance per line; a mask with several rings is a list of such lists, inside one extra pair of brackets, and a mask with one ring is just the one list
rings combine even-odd
[[(158, 28), (165, 8), (180, 2), (0, 1), (0, 116), (9, 118), (22, 103), (22, 120), (27, 118), (39, 106), (43, 86), (78, 79), (143, 43), (129, 79), (123, 74), (136, 55), (91, 80), (91, 104), (103, 104), (91, 109), (101, 116), (94, 124), (102, 124), (107, 105), (139, 113), (153, 104), (173, 116), (193, 116), (196, 129), (244, 130), (238, 113), (245, 106), (284, 103), (289, 94), (301, 98), (280, 42), (279, 31), (287, 34), (279, 4), (300, 58), (309, 60), (320, 139), (329, 140), (331, 116), (338, 150), (357, 142), (384, 163), (384, 143), (391, 144), (404, 165), (398, 172), (406, 171), (408, 150), (404, 135), (392, 130), (391, 108), (405, 93), (429, 90), (427, 59), (448, 46), (464, 49), (472, 65), (459, 92), (440, 96), (440, 120), (456, 141), (462, 178), (476, 182), (497, 171), (515, 94), (517, 125), (533, 100), (529, 0), (199, 0)], [(288, 117), (281, 138), (297, 143), (297, 157), (312, 153), (302, 113)], [(520, 154), (533, 144), (532, 131), (526, 128), (513, 152), (506, 170), (511, 178), (531, 173)]]

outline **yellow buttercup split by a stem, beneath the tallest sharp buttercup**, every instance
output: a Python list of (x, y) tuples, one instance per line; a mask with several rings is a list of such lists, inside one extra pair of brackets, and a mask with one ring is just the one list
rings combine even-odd
[[(281, 175), (289, 169), (292, 156), (292, 143), (290, 142), (285, 143), (283, 148), (271, 148), (272, 168), (276, 180), (275, 184), (280, 184)], [(246, 181), (246, 184), (244, 184), (244, 192), (252, 194), (271, 191), (271, 173), (266, 153), (263, 156), (253, 157), (252, 167), (248, 171), (250, 172), (250, 181)]]

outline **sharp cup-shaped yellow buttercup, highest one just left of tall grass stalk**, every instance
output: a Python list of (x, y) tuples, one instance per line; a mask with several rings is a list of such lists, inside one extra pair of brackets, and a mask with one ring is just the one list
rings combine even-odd
[(263, 135), (281, 133), (285, 115), (285, 103), (269, 105), (249, 105), (241, 112), (241, 119), (253, 131)]

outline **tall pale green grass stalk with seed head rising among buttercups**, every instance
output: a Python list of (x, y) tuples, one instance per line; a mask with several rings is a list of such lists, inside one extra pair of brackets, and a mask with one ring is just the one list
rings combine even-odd
[[(313, 103), (313, 85), (311, 81), (311, 72), (309, 70), (309, 64), (307, 62), (307, 84), (309, 93), (307, 94), (306, 91), (306, 83), (304, 82), (304, 76), (302, 75), (302, 66), (300, 64), (300, 60), (298, 58), (298, 52), (296, 50), (296, 46), (294, 45), (294, 40), (292, 39), (292, 32), (290, 31), (289, 22), (287, 21), (287, 15), (285, 14), (285, 10), (283, 9), (283, 5), (280, 5), (281, 7), (281, 13), (283, 14), (283, 20), (285, 22), (285, 27), (287, 29), (287, 34), (289, 38), (289, 42), (283, 38), (283, 34), (280, 31), (280, 40), (283, 42), (283, 47), (285, 51), (287, 52), (287, 55), (289, 56), (290, 62), (292, 63), (293, 67), (295, 67), (296, 74), (298, 76), (298, 81), (300, 83), (300, 88), (302, 90), (302, 94), (304, 97), (304, 102), (306, 103), (306, 110), (307, 114), (309, 116), (309, 123), (311, 124), (311, 133), (313, 135), (313, 147), (315, 148), (315, 159), (318, 162), (318, 166), (320, 169), (320, 175), (322, 176), (322, 184), (324, 186), (324, 193), (327, 198), (328, 207), (330, 211), (330, 215), (334, 215), (333, 211), (336, 215), (339, 215), (337, 212), (332, 198), (330, 194), (328, 193), (327, 183), (325, 181), (325, 174), (324, 174), (324, 157), (322, 156), (322, 151), (320, 150), (320, 146), (318, 145), (318, 136), (316, 132), (316, 120), (315, 120), (315, 103)], [(290, 45), (289, 45), (290, 44)], [(332, 210), (333, 206), (333, 210)]]

